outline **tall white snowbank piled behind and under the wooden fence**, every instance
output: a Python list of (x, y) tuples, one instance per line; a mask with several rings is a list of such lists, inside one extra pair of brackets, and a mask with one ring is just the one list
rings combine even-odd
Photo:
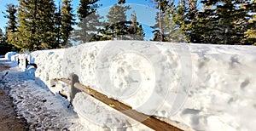
[[(105, 41), (36, 51), (28, 60), (38, 65), (38, 82), (55, 94), (70, 88), (52, 88), (51, 80), (75, 73), (80, 83), (137, 111), (195, 130), (255, 128), (256, 47)], [(73, 105), (92, 130), (148, 130), (84, 93)]]

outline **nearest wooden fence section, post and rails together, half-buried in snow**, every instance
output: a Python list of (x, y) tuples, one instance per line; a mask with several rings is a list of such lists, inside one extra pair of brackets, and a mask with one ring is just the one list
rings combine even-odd
[[(79, 77), (75, 74), (72, 75), (71, 80), (66, 78), (54, 79), (54, 82), (57, 82), (57, 81), (61, 81), (63, 83), (67, 83), (71, 85), (71, 94), (70, 94), (71, 102), (73, 101), (75, 94), (77, 94), (80, 91), (83, 91), (84, 93), (89, 94), (91, 97), (95, 98), (96, 100), (100, 100), (102, 101), (102, 103), (105, 103), (106, 105), (112, 107), (113, 109), (122, 112), (128, 117), (131, 117), (137, 122), (143, 123), (144, 125), (148, 126), (148, 128), (152, 128), (154, 130), (164, 130), (164, 131), (182, 131), (182, 129), (177, 128), (167, 122), (160, 121), (155, 117), (151, 117), (141, 112), (132, 110), (131, 106), (125, 105), (124, 103), (119, 102), (118, 100), (113, 100), (112, 98), (108, 98), (107, 95), (99, 93), (88, 86), (84, 86), (83, 84), (79, 83)], [(67, 95), (67, 94), (62, 93), (62, 95)]]

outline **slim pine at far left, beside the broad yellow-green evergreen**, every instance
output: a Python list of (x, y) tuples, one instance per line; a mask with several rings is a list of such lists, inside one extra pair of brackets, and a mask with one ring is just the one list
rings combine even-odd
[(9, 20), (6, 26), (6, 42), (15, 45), (17, 43), (17, 9), (14, 4), (8, 4), (6, 12), (8, 14), (5, 15), (5, 18)]

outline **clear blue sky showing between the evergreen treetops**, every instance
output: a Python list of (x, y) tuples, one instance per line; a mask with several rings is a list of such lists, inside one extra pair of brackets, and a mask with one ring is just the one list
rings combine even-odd
[[(117, 3), (118, 0), (100, 0), (99, 3), (102, 4), (102, 7), (98, 9), (99, 14), (106, 15), (108, 14), (108, 10), (113, 6), (114, 3)], [(1, 14), (0, 14), (0, 28), (4, 30), (6, 26), (7, 19), (3, 17), (3, 11), (6, 10), (6, 5), (8, 3), (14, 3), (18, 5), (18, 0), (4, 0), (0, 4)], [(59, 0), (55, 0), (55, 4), (58, 4)], [(79, 0), (73, 0), (73, 11), (76, 13), (76, 10), (79, 6)], [(154, 25), (154, 16), (156, 9), (152, 8), (152, 3), (150, 0), (126, 0), (126, 4), (131, 6), (131, 10), (127, 11), (127, 20), (130, 20), (130, 14), (134, 10), (137, 14), (137, 20), (143, 24), (143, 28), (146, 31), (146, 39), (152, 38), (153, 35), (151, 33), (150, 26)]]

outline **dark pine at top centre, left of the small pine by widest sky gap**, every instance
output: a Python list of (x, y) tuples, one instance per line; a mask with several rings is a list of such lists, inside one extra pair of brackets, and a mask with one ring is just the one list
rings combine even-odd
[(127, 39), (125, 35), (128, 34), (128, 25), (131, 24), (131, 21), (126, 20), (126, 11), (128, 9), (131, 9), (128, 5), (123, 6), (122, 4), (114, 4), (109, 10), (107, 15), (108, 26), (106, 26), (105, 30), (107, 35), (110, 35), (112, 39)]

